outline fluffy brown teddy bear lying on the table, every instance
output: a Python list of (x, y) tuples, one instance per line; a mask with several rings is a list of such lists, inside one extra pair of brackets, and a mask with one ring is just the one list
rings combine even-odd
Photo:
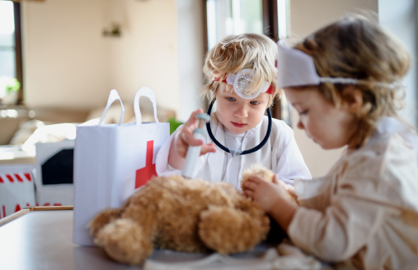
[[(266, 169), (251, 174), (271, 179)], [(119, 209), (106, 209), (89, 223), (95, 244), (112, 259), (140, 264), (153, 248), (189, 253), (240, 253), (265, 239), (270, 219), (229, 183), (180, 175), (154, 177)]]

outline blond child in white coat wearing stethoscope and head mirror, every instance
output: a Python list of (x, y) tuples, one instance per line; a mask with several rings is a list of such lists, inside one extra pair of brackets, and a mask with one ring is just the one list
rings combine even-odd
[[(280, 179), (311, 179), (293, 137), (293, 130), (277, 119), (264, 116), (276, 96), (277, 45), (258, 34), (227, 36), (208, 52), (203, 68), (207, 84), (202, 94), (216, 100), (203, 142), (193, 137), (193, 112), (157, 153), (157, 174), (180, 174), (189, 145), (202, 145), (194, 177), (225, 181), (240, 188), (240, 176), (253, 163), (261, 163)], [(215, 142), (213, 144), (212, 142)]]

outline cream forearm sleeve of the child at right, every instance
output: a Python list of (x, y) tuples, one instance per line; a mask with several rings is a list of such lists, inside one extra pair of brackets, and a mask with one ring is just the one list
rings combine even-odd
[(308, 253), (322, 260), (348, 260), (366, 245), (384, 219), (384, 211), (357, 197), (342, 196), (325, 212), (300, 207), (288, 235)]

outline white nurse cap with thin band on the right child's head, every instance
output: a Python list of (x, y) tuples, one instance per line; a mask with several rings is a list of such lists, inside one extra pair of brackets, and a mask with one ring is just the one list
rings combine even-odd
[[(369, 81), (345, 77), (319, 77), (316, 73), (314, 59), (304, 52), (286, 46), (284, 40), (279, 40), (277, 57), (277, 87), (302, 87), (305, 85), (318, 85), (322, 82), (332, 84), (370, 84)], [(380, 87), (396, 88), (400, 84), (393, 82), (374, 82)]]

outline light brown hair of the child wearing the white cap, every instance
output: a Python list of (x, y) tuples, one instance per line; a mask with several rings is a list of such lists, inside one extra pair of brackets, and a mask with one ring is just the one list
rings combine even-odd
[[(410, 56), (378, 23), (362, 15), (349, 14), (311, 34), (295, 48), (314, 58), (320, 77), (346, 77), (360, 81), (355, 84), (363, 97), (363, 106), (357, 112), (359, 133), (354, 138), (357, 147), (367, 142), (380, 117), (399, 118), (396, 110), (402, 107), (404, 89), (396, 82), (408, 72)], [(347, 84), (325, 82), (318, 90), (339, 107), (342, 101), (353, 98), (343, 95), (346, 87)]]

